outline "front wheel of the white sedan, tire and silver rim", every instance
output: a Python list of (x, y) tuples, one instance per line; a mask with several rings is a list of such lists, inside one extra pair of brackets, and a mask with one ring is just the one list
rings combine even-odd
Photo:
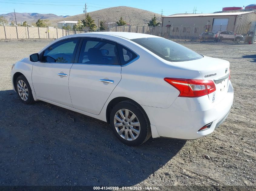
[(28, 83), (28, 80), (24, 75), (18, 76), (16, 79), (16, 92), (20, 100), (25, 104), (32, 104), (34, 102), (34, 97), (32, 95), (32, 90)]

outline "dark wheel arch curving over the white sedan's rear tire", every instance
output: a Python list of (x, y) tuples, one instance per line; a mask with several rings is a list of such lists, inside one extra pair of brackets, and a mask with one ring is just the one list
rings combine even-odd
[(121, 102), (121, 101), (125, 101), (125, 100), (129, 100), (129, 101), (132, 101), (132, 102), (136, 103), (136, 104), (141, 108), (141, 110), (145, 113), (145, 115), (147, 116), (148, 122), (149, 122), (149, 124), (150, 124), (150, 120), (149, 120), (149, 118), (148, 118), (148, 115), (147, 115), (147, 113), (145, 112), (145, 110), (141, 107), (141, 105), (140, 105), (139, 103), (137, 103), (135, 100), (132, 100), (132, 99), (130, 99), (130, 98), (128, 98), (128, 97), (115, 97), (115, 98), (113, 98), (113, 99), (108, 103), (108, 106), (107, 106), (107, 109), (106, 109), (106, 120), (107, 120), (107, 123), (108, 123), (108, 124), (109, 124), (109, 122), (110, 122), (110, 113), (111, 113), (111, 110), (113, 109), (113, 107), (114, 107), (117, 103), (119, 103), (119, 102)]

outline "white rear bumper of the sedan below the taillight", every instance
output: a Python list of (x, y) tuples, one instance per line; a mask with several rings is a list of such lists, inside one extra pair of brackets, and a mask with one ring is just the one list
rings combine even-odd
[[(206, 95), (197, 98), (177, 97), (169, 108), (142, 107), (159, 136), (197, 139), (210, 134), (223, 123), (232, 107), (233, 99), (234, 90), (229, 81), (225, 98), (217, 104), (211, 103)], [(212, 123), (209, 129), (198, 132), (208, 123)]]

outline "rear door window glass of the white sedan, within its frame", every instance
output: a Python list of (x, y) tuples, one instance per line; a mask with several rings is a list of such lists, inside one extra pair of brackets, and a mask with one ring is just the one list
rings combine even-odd
[(84, 39), (78, 63), (119, 65), (116, 44), (104, 40)]

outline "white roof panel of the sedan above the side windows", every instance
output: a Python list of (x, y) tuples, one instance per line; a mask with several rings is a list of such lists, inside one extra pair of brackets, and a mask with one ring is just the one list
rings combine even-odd
[[(80, 33), (80, 34), (74, 34), (74, 35), (68, 35), (69, 37), (90, 37), (91, 34), (97, 34), (100, 36), (116, 36), (116, 37), (122, 37), (125, 39), (137, 39), (137, 38), (152, 38), (152, 37), (158, 37), (150, 34), (142, 34), (142, 33), (129, 33), (129, 32), (91, 32), (91, 33)], [(94, 35), (93, 35), (94, 36)], [(67, 36), (66, 36), (67, 37)], [(94, 36), (95, 37), (95, 36)], [(160, 37), (159, 37), (160, 38)]]

